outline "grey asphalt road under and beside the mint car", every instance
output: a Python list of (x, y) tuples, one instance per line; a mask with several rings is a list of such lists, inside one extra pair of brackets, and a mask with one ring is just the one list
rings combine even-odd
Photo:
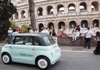
[[(12, 63), (5, 65), (0, 59), (0, 70), (39, 70), (34, 65)], [(100, 70), (100, 55), (89, 52), (62, 51), (61, 59), (49, 70)]]

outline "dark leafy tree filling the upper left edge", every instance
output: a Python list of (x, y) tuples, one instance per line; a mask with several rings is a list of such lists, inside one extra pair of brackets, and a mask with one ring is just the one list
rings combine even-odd
[(8, 0), (0, 0), (0, 40), (5, 39), (11, 25), (9, 19), (16, 12), (15, 6)]

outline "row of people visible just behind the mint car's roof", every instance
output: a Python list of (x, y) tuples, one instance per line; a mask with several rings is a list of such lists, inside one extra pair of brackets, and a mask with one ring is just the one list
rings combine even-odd
[[(35, 28), (35, 30), (33, 31), (32, 27), (28, 27), (27, 30), (28, 30), (28, 33), (38, 33), (39, 32), (37, 28)], [(18, 33), (23, 33), (23, 30), (22, 30), (21, 27), (18, 29), (18, 31), (16, 29), (13, 29), (12, 30), (11, 28), (9, 28), (8, 29), (8, 40), (11, 40), (12, 37), (15, 34), (18, 34)], [(53, 39), (57, 42), (57, 34), (56, 34), (56, 32), (55, 32), (54, 29), (53, 30), (49, 30), (46, 27), (42, 27), (40, 33), (50, 34), (53, 37)]]

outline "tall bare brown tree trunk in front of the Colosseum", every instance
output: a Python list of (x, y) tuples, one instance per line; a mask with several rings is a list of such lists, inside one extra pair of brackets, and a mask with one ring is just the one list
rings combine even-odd
[(35, 21), (35, 3), (34, 0), (28, 0), (29, 2), (29, 13), (30, 13), (30, 20), (31, 20), (31, 26), (33, 27), (33, 30), (36, 28), (36, 21)]

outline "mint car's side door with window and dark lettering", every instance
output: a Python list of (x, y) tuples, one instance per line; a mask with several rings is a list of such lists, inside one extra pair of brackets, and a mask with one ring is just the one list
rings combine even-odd
[(12, 60), (32, 64), (34, 57), (33, 40), (30, 36), (16, 36), (11, 46)]

